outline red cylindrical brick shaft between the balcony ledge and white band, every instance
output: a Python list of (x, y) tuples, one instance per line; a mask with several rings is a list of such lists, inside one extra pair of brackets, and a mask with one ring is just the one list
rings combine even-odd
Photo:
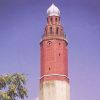
[(41, 76), (63, 74), (68, 76), (68, 56), (66, 42), (46, 40), (41, 44)]

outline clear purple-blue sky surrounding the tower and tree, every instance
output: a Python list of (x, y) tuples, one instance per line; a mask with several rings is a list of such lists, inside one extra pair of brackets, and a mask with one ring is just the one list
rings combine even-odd
[[(100, 99), (100, 1), (54, 0), (69, 41), (71, 100)], [(25, 73), (39, 94), (39, 42), (52, 0), (0, 0), (0, 74)]]

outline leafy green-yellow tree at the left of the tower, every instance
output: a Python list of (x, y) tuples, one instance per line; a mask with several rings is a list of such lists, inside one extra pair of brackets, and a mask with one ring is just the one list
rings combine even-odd
[(9, 74), (0, 76), (0, 100), (16, 100), (27, 97), (24, 74)]

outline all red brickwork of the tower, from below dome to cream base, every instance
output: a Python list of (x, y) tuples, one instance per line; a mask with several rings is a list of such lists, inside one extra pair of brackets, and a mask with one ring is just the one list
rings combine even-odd
[[(64, 36), (59, 16), (48, 16), (47, 25), (40, 43), (41, 77), (59, 74), (68, 77), (68, 42)], [(58, 80), (58, 76), (43, 77), (43, 80)], [(65, 77), (59, 77), (59, 80)]]

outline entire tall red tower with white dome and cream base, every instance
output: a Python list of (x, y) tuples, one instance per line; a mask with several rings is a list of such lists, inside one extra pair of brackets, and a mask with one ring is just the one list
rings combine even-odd
[(40, 100), (70, 100), (68, 42), (60, 23), (60, 11), (52, 4), (40, 42)]

